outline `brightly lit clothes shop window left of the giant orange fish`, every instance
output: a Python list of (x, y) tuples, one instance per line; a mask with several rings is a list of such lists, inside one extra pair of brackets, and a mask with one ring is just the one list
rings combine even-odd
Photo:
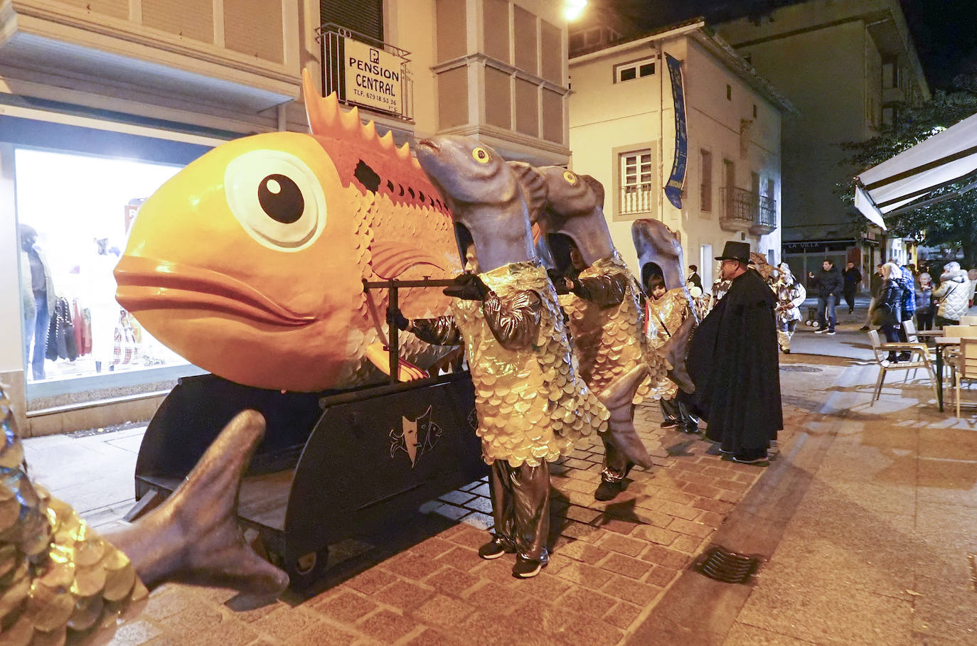
[(112, 275), (143, 200), (180, 168), (16, 150), (28, 385), (187, 365), (119, 306)]

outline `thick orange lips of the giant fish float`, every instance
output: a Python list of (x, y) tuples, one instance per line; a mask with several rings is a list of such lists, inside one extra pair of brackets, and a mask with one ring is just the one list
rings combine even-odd
[(116, 299), (129, 311), (200, 308), (281, 327), (315, 320), (227, 274), (187, 264), (123, 256), (115, 267), (115, 280)]

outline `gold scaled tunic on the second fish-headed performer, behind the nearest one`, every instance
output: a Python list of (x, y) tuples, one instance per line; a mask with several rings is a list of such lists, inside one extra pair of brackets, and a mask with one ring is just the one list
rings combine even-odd
[[(592, 262), (577, 277), (579, 294), (560, 297), (570, 317), (573, 348), (580, 376), (594, 391), (602, 392), (617, 378), (644, 363), (649, 375), (638, 386), (633, 403), (646, 396), (668, 396), (667, 366), (644, 334), (645, 312), (641, 287), (627, 265), (614, 256)], [(673, 387), (673, 386), (672, 386)]]

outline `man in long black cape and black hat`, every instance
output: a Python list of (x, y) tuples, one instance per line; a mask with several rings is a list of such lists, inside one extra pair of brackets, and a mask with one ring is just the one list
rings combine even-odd
[(701, 322), (687, 359), (696, 391), (693, 410), (708, 423), (706, 438), (733, 462), (765, 466), (767, 449), (784, 428), (774, 308), (765, 280), (747, 268), (749, 245), (727, 242), (722, 277), (729, 292)]

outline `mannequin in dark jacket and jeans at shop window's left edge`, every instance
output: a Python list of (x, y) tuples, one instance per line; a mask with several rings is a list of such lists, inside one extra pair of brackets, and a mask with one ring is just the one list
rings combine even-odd
[[(29, 224), (21, 224), (21, 278), (23, 294), (23, 349), (24, 367), (30, 362), (34, 381), (45, 378), (44, 355), (47, 354), (48, 326), (55, 308), (55, 287), (51, 280), (51, 267), (37, 246), (37, 230)], [(29, 301), (29, 303), (28, 303)], [(28, 306), (29, 305), (29, 306)], [(33, 345), (33, 354), (30, 352)]]

